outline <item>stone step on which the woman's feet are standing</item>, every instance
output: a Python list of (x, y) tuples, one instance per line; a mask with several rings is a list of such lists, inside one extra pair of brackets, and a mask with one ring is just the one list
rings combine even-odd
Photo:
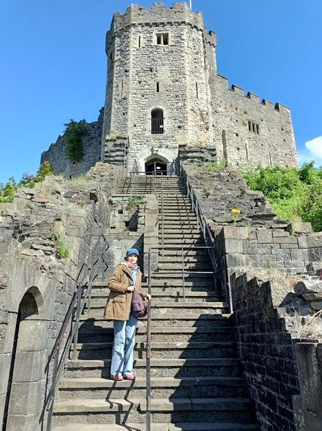
[[(207, 398), (243, 398), (247, 396), (245, 379), (240, 377), (153, 377), (151, 378), (151, 398), (194, 397)], [(146, 396), (146, 378), (123, 380), (115, 383), (108, 378), (79, 377), (64, 378), (59, 385), (57, 401), (72, 398), (144, 398)]]

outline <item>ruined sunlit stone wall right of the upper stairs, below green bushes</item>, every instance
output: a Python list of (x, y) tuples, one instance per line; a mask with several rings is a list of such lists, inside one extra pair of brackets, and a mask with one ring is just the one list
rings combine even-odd
[(278, 220), (263, 193), (249, 190), (234, 170), (205, 176), (203, 165), (185, 164), (184, 169), (214, 232), (224, 287), (236, 270), (296, 274), (321, 261), (322, 234), (313, 233), (307, 223)]

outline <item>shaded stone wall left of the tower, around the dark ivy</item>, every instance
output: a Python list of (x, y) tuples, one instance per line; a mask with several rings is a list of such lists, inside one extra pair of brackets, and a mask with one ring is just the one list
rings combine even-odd
[(49, 161), (55, 175), (62, 174), (68, 178), (84, 175), (97, 161), (101, 160), (103, 116), (103, 109), (101, 109), (97, 121), (86, 123), (86, 132), (83, 137), (84, 157), (82, 161), (72, 162), (68, 159), (64, 134), (62, 134), (59, 135), (55, 143), (50, 145), (47, 151), (41, 154), (40, 162)]

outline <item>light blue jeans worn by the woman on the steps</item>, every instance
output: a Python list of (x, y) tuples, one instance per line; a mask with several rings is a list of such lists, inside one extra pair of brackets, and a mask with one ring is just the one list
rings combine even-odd
[(114, 342), (111, 376), (133, 374), (133, 349), (137, 318), (130, 313), (129, 320), (114, 320)]

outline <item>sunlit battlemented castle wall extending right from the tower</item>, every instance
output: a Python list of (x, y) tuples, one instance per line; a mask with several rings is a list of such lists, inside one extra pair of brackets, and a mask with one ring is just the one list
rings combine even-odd
[[(214, 142), (231, 166), (297, 167), (290, 109), (233, 85), (220, 75), (211, 80)], [(258, 132), (249, 131), (249, 121)]]

